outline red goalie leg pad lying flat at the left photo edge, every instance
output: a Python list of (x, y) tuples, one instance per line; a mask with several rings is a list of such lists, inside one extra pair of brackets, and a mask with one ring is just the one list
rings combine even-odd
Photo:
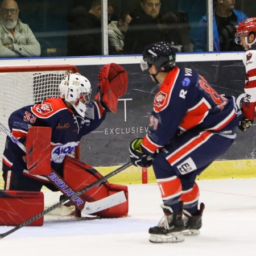
[[(44, 210), (44, 194), (38, 191), (0, 190), (0, 225), (18, 226)], [(43, 216), (28, 226), (42, 226)]]

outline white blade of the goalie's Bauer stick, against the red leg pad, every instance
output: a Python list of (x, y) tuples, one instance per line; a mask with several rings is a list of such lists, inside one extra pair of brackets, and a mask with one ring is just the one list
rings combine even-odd
[(100, 199), (94, 202), (86, 202), (82, 213), (92, 214), (100, 212), (101, 210), (114, 207), (115, 205), (122, 204), (126, 202), (125, 192), (120, 191), (111, 196), (107, 196), (104, 199)]

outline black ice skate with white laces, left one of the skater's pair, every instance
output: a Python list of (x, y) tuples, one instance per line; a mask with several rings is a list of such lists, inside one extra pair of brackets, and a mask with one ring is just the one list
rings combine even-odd
[(181, 230), (184, 229), (182, 220), (182, 210), (173, 212), (171, 207), (161, 205), (164, 211), (164, 216), (157, 226), (150, 228), (149, 241), (152, 243), (176, 243), (183, 242), (184, 236)]

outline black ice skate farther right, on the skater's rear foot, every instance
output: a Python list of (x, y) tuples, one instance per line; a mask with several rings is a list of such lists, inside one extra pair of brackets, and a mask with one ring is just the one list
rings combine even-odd
[(200, 234), (200, 228), (202, 226), (202, 214), (204, 211), (204, 203), (200, 204), (200, 209), (193, 215), (191, 215), (187, 210), (183, 209), (183, 222), (184, 222), (184, 236), (196, 236)]

